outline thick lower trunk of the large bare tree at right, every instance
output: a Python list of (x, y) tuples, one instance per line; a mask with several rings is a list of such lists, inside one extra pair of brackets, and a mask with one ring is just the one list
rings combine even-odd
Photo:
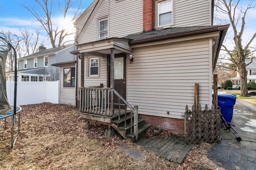
[[(244, 66), (243, 66), (244, 64)], [(239, 75), (240, 75), (240, 96), (246, 96), (248, 97), (248, 89), (247, 89), (247, 70), (245, 63), (243, 62), (239, 66)]]

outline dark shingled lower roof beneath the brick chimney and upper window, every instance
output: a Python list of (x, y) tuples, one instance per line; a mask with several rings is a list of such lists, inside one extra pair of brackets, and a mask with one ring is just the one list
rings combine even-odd
[(156, 39), (156, 38), (170, 38), (172, 37), (180, 37), (182, 35), (188, 36), (189, 34), (193, 35), (196, 33), (204, 33), (204, 32), (210, 32), (210, 31), (216, 31), (219, 29), (219, 27), (222, 27), (224, 25), (207, 25), (207, 26), (192, 26), (192, 27), (170, 27), (167, 29), (160, 29), (155, 31), (149, 31), (146, 33), (138, 33), (138, 34), (131, 34), (127, 35), (122, 38), (126, 39), (132, 39), (129, 43), (133, 44), (139, 41), (150, 41), (150, 39)]

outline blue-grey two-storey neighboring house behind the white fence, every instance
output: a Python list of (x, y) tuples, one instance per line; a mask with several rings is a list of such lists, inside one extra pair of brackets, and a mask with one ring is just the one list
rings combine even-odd
[[(60, 68), (51, 64), (74, 60), (70, 54), (74, 49), (72, 44), (51, 49), (40, 46), (38, 52), (18, 59), (18, 81), (60, 80)], [(14, 80), (13, 76), (14, 72), (6, 72), (6, 79)]]

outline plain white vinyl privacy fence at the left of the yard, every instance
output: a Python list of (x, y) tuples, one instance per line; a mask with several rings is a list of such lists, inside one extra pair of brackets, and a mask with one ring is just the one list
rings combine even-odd
[[(17, 105), (50, 102), (59, 104), (60, 82), (17, 82)], [(14, 82), (6, 81), (6, 92), (11, 105), (14, 104)]]

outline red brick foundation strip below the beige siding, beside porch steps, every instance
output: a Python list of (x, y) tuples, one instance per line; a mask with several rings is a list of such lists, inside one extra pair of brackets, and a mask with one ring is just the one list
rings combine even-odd
[(162, 130), (167, 130), (175, 134), (184, 134), (184, 119), (174, 119), (168, 117), (140, 115), (144, 122)]

